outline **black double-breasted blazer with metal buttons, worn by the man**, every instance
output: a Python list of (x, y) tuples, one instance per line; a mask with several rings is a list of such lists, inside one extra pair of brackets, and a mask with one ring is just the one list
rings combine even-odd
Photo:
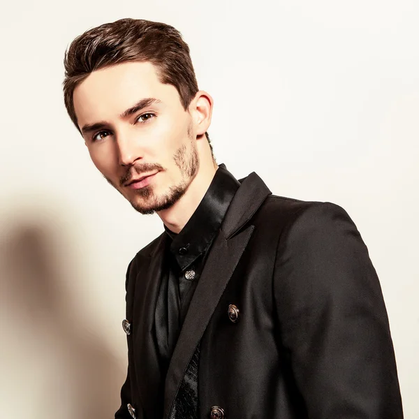
[(131, 261), (128, 376), (115, 418), (131, 418), (131, 404), (138, 419), (167, 419), (199, 342), (200, 419), (212, 406), (227, 419), (402, 418), (381, 287), (353, 221), (337, 205), (272, 196), (254, 172), (241, 182), (166, 384), (154, 340), (166, 235)]

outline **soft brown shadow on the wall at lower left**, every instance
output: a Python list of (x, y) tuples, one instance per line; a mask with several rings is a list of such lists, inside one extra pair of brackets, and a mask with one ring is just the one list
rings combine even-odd
[(0, 235), (1, 410), (31, 419), (113, 418), (121, 366), (72, 290), (80, 260), (57, 224), (18, 218), (3, 219), (10, 223)]

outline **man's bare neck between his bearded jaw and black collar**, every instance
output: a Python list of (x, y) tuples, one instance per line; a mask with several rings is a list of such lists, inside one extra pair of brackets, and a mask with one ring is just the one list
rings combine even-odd
[(218, 166), (215, 163), (207, 167), (200, 167), (196, 177), (188, 186), (188, 189), (186, 189), (184, 196), (168, 210), (158, 213), (161, 221), (170, 231), (180, 233), (186, 226), (186, 223), (196, 211), (210, 187), (217, 168)]

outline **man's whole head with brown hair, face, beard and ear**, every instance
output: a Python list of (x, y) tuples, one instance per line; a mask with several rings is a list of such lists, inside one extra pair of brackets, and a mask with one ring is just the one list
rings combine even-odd
[(198, 91), (189, 47), (173, 27), (103, 24), (75, 38), (64, 66), (68, 115), (98, 170), (139, 212), (166, 210), (203, 160), (214, 163), (212, 98)]

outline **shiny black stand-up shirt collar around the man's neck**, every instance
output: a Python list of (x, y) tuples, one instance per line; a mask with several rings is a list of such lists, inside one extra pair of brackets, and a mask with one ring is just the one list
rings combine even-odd
[(240, 182), (226, 166), (219, 165), (203, 200), (182, 231), (175, 234), (164, 227), (172, 239), (170, 252), (181, 270), (191, 265), (210, 247), (239, 186)]

